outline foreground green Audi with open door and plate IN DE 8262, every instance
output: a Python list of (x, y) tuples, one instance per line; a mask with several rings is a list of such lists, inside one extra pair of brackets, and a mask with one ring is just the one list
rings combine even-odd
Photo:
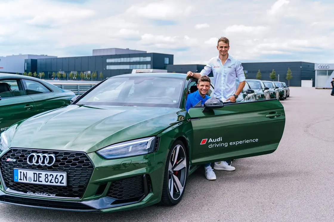
[(0, 137), (0, 202), (89, 212), (175, 205), (202, 164), (278, 148), (286, 119), (279, 100), (211, 97), (187, 111), (196, 81), (118, 75), (71, 105), (15, 123)]

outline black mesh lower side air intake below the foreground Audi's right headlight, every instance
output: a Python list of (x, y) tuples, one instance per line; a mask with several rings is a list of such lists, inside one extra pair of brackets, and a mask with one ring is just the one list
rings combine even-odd
[(152, 192), (149, 175), (139, 175), (113, 182), (107, 196), (118, 200), (140, 199), (149, 192)]

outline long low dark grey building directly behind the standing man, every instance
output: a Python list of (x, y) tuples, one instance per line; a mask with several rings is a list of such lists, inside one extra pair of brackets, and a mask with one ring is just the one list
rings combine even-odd
[[(168, 65), (168, 72), (187, 73), (188, 71), (200, 72), (205, 65)], [(247, 79), (256, 79), (258, 71), (261, 72), (261, 80), (270, 80), (270, 73), (273, 69), (276, 72), (276, 79), (274, 81), (285, 82), (288, 84), (287, 76), (288, 68), (292, 72), (292, 79), (290, 86), (301, 86), (302, 80), (313, 80), (313, 87), (315, 86), (315, 69), (314, 63), (308, 62), (255, 62), (242, 63), (243, 70)], [(209, 74), (212, 76), (212, 72)]]

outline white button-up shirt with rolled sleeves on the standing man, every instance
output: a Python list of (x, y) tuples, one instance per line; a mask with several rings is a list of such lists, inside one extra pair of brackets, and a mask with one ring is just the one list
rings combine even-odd
[(239, 82), (246, 80), (241, 62), (228, 55), (225, 63), (222, 64), (218, 55), (209, 60), (200, 74), (201, 76), (209, 75), (211, 70), (214, 77), (214, 83), (212, 84), (214, 86), (213, 97), (221, 99), (223, 102), (230, 102), (226, 100), (233, 96), (236, 91), (236, 77)]

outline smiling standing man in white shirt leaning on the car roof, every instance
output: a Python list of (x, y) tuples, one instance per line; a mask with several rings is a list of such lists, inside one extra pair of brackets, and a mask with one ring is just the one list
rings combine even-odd
[[(217, 50), (219, 55), (211, 58), (200, 73), (193, 73), (189, 71), (187, 76), (198, 79), (203, 75), (209, 75), (212, 71), (214, 77), (214, 90), (213, 96), (211, 95), (211, 97), (216, 97), (224, 103), (234, 103), (246, 84), (243, 67), (239, 60), (233, 59), (228, 54), (229, 40), (227, 38), (221, 37), (218, 39)], [(239, 86), (237, 89), (235, 87), (236, 77), (239, 80)], [(235, 167), (230, 166), (231, 163), (231, 160), (215, 162), (213, 169), (228, 171), (235, 170)], [(210, 164), (205, 164), (204, 168), (205, 176), (208, 180), (216, 179), (216, 175)]]

